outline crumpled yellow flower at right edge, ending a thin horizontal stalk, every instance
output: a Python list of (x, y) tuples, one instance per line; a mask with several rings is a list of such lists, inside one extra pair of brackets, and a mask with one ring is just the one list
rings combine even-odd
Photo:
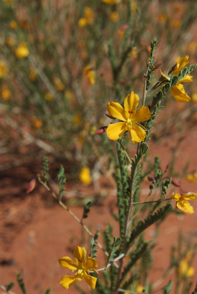
[(192, 214), (194, 213), (193, 207), (189, 204), (187, 200), (195, 200), (197, 197), (197, 193), (189, 192), (187, 194), (174, 194), (172, 193), (171, 198), (176, 200), (176, 206), (183, 211), (184, 213)]

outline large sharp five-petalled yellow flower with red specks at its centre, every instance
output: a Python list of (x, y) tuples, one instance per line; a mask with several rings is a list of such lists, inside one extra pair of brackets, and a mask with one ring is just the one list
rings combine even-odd
[(112, 123), (107, 127), (107, 136), (111, 140), (117, 140), (126, 131), (130, 131), (133, 143), (141, 142), (145, 139), (147, 131), (142, 125), (141, 121), (147, 121), (150, 118), (150, 111), (148, 107), (141, 106), (138, 111), (136, 108), (139, 104), (140, 98), (132, 91), (124, 101), (124, 108), (117, 102), (109, 102), (107, 110), (110, 116), (120, 119), (123, 122)]

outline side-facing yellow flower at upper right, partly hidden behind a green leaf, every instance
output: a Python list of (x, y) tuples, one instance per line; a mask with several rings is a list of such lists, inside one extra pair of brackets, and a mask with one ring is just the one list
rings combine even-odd
[[(178, 76), (179, 72), (188, 64), (189, 56), (181, 58), (177, 63), (176, 69), (173, 71), (175, 76)], [(181, 82), (193, 82), (193, 77), (190, 74), (187, 74), (184, 78), (182, 78), (176, 85), (174, 85), (170, 91), (172, 96), (179, 102), (188, 102), (191, 98), (186, 94), (183, 85)]]

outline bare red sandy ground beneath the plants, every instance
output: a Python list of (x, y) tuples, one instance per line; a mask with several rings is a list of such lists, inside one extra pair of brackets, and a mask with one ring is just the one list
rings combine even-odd
[[(177, 170), (190, 160), (189, 171), (196, 170), (197, 156), (197, 127), (187, 131), (185, 140), (181, 143), (176, 160)], [(159, 143), (150, 145), (150, 153), (160, 156), (162, 168), (169, 162), (171, 148), (176, 145), (175, 136), (161, 139)], [(153, 152), (154, 150), (154, 152)], [(2, 162), (7, 161), (2, 156)], [(31, 169), (28, 168), (32, 166)], [(0, 201), (1, 201), (1, 228), (0, 228), (0, 283), (8, 284), (15, 281), (15, 270), (23, 272), (27, 293), (44, 293), (47, 288), (52, 288), (52, 293), (78, 293), (72, 286), (65, 290), (59, 285), (62, 275), (72, 274), (69, 270), (62, 268), (57, 259), (69, 255), (72, 257), (76, 245), (89, 246), (87, 235), (82, 234), (80, 225), (58, 204), (51, 201), (51, 196), (44, 187), (37, 183), (34, 191), (28, 196), (26, 188), (28, 182), (42, 169), (42, 164), (27, 163), (6, 171), (1, 171)], [(196, 191), (197, 183), (188, 183), (181, 180), (184, 191)], [(80, 187), (79, 187), (80, 188)], [(86, 225), (95, 233), (97, 227), (100, 231), (105, 228), (107, 222), (112, 221), (110, 210), (116, 202), (113, 187), (102, 187), (107, 189), (108, 197), (103, 205), (93, 206), (89, 218), (85, 220)], [(173, 191), (180, 191), (172, 187)], [(72, 190), (72, 187), (70, 187)], [(91, 193), (91, 188), (87, 193)], [(182, 190), (182, 191), (183, 191)], [(175, 203), (173, 203), (175, 204)], [(184, 237), (197, 241), (197, 201), (192, 203), (195, 213), (193, 215), (176, 216), (170, 215), (161, 225), (158, 245), (154, 253), (154, 265), (151, 281), (156, 282), (163, 271), (169, 265), (171, 245), (177, 245), (177, 232), (183, 230)], [(71, 207), (78, 216), (82, 215), (82, 207)], [(116, 230), (114, 234), (117, 236)], [(151, 239), (153, 226), (147, 230), (147, 238)], [(102, 240), (102, 237), (100, 238)], [(101, 241), (102, 242), (102, 241)], [(98, 251), (99, 268), (104, 266), (104, 258), (101, 250)], [(193, 261), (197, 273), (197, 256)], [(168, 282), (173, 275), (167, 278)], [(196, 274), (192, 277), (193, 283), (197, 280)], [(158, 289), (164, 285), (158, 286)], [(87, 284), (80, 283), (85, 293), (90, 293)], [(194, 284), (192, 290), (194, 289)], [(20, 293), (18, 286), (13, 288), (15, 293)], [(5, 293), (0, 289), (0, 294)], [(157, 293), (162, 293), (158, 291)], [(172, 291), (173, 293), (173, 291)]]

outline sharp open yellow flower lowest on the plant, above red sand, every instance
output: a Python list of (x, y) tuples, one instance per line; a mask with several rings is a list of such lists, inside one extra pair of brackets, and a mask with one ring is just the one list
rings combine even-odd
[(91, 270), (97, 273), (95, 268), (97, 268), (98, 264), (95, 258), (90, 256), (86, 258), (86, 254), (87, 252), (84, 247), (77, 246), (73, 253), (75, 262), (68, 256), (58, 259), (60, 265), (64, 268), (72, 271), (77, 270), (75, 276), (64, 275), (62, 277), (60, 285), (65, 289), (70, 288), (75, 282), (81, 282), (83, 278), (92, 289), (95, 289), (97, 278), (88, 275), (88, 271)]

